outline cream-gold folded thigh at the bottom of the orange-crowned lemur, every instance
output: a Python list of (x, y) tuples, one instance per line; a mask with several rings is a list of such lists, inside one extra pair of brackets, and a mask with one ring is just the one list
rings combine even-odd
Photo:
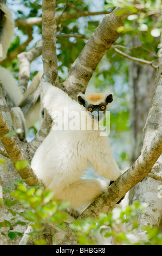
[(109, 182), (100, 179), (80, 179), (79, 181), (63, 187), (55, 196), (61, 201), (69, 201), (70, 206), (77, 211), (83, 211), (108, 187)]

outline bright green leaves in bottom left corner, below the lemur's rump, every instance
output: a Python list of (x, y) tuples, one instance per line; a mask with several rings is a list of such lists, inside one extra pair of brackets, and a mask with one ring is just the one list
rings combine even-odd
[[(1, 222), (0, 227), (8, 227), (8, 236), (13, 240), (16, 235), (23, 235), (15, 231), (15, 227), (30, 222), (34, 229), (30, 233), (30, 238), (40, 236), (41, 244), (45, 244), (46, 241), (41, 236), (48, 223), (55, 223), (55, 225), (59, 223), (59, 227), (64, 228), (63, 221), (67, 220), (67, 214), (63, 210), (67, 208), (68, 203), (60, 203), (54, 199), (54, 193), (45, 191), (43, 186), (27, 187), (24, 181), (16, 180), (4, 189), (3, 192), (7, 197), (2, 199), (1, 207), (8, 209), (13, 217), (11, 221), (4, 220)], [(13, 190), (15, 186), (16, 188)], [(14, 210), (12, 209), (13, 206)], [(3, 231), (1, 233), (7, 235)], [(40, 242), (36, 240), (36, 244), (40, 244)]]

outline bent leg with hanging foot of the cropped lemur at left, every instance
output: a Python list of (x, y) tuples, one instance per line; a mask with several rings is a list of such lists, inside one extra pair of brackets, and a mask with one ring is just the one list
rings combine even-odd
[(18, 107), (11, 108), (11, 117), (14, 129), (21, 129), (19, 137), (22, 141), (26, 137), (26, 129), (32, 126), (40, 114), (40, 95), (39, 87), (43, 71), (38, 72), (25, 92)]

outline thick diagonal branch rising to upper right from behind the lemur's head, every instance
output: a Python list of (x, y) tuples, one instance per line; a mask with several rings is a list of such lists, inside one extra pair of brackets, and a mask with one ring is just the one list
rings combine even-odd
[[(120, 11), (121, 14), (119, 15)], [(68, 94), (74, 99), (77, 92), (85, 92), (101, 58), (120, 36), (116, 29), (123, 25), (124, 19), (130, 14), (131, 12), (127, 8), (116, 8), (111, 14), (103, 18), (100, 25), (90, 36), (79, 57), (70, 68), (67, 80), (63, 83)]]

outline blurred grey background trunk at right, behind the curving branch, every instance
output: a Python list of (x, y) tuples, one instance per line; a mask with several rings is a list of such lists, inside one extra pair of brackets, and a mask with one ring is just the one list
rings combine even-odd
[(129, 62), (129, 86), (131, 87), (131, 138), (130, 162), (138, 159), (144, 139), (144, 125), (151, 104), (155, 70), (149, 65)]

